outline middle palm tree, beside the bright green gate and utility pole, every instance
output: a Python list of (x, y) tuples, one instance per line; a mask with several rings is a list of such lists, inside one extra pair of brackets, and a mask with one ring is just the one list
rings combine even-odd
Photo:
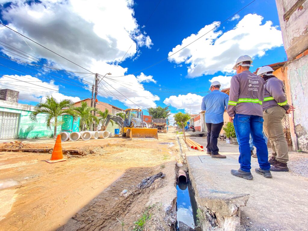
[(80, 131), (84, 131), (85, 127), (87, 130), (89, 130), (91, 128), (91, 125), (93, 124), (93, 120), (95, 121), (95, 123), (99, 123), (98, 118), (92, 114), (92, 111), (98, 111), (97, 108), (89, 107), (87, 102), (81, 102), (81, 107), (74, 107), (74, 110), (80, 117)]

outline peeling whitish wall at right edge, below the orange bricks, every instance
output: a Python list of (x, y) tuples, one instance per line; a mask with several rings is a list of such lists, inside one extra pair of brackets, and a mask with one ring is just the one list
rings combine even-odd
[(308, 55), (287, 63), (298, 149), (308, 152)]

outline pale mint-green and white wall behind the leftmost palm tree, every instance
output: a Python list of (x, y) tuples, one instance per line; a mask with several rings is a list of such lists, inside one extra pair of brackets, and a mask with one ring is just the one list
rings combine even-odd
[[(34, 106), (31, 105), (0, 100), (0, 111), (20, 114), (18, 127), (19, 139), (33, 139), (53, 136), (54, 130), (50, 130), (46, 127), (45, 114), (40, 114), (37, 116), (38, 122), (31, 121), (30, 113), (33, 110)], [(62, 120), (62, 115), (58, 117), (58, 120)], [(57, 127), (57, 134), (60, 132), (61, 125)]]

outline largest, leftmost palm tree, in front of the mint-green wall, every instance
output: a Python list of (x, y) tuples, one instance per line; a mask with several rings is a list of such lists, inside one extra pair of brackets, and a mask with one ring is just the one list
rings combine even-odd
[(63, 99), (58, 102), (53, 97), (47, 96), (46, 102), (39, 103), (34, 107), (34, 111), (30, 114), (30, 119), (37, 122), (36, 116), (45, 113), (46, 115), (46, 126), (51, 129), (51, 125), (54, 125), (54, 138), (57, 135), (57, 126), (62, 123), (58, 121), (58, 117), (63, 114), (68, 114), (73, 116), (73, 120), (77, 120), (77, 114), (72, 108), (73, 101), (69, 99)]

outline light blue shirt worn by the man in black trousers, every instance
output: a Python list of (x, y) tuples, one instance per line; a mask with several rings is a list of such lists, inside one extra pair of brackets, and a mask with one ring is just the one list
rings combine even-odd
[(205, 111), (205, 123), (224, 122), (224, 111), (228, 108), (229, 95), (214, 90), (202, 99), (201, 110)]

